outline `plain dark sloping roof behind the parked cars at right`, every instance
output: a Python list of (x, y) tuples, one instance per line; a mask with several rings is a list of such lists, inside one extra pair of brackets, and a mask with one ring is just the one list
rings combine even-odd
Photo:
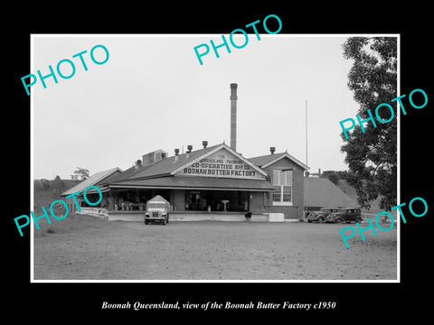
[(327, 178), (305, 177), (307, 207), (344, 208), (359, 205)]

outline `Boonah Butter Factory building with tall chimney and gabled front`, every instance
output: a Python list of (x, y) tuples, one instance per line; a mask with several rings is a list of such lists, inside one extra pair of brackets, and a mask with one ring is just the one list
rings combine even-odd
[[(203, 141), (202, 148), (189, 145), (186, 153), (157, 150), (124, 172), (116, 168), (92, 175), (82, 186), (98, 186), (103, 200), (83, 210), (99, 209), (110, 220), (140, 221), (146, 201), (160, 195), (171, 204), (172, 220), (244, 220), (246, 212), (252, 221), (275, 213), (302, 218), (307, 165), (287, 152), (275, 153), (274, 147), (258, 157), (237, 153), (237, 99), (237, 84), (231, 84), (231, 146)], [(80, 184), (62, 195), (79, 191)], [(91, 195), (98, 193), (89, 190)]]

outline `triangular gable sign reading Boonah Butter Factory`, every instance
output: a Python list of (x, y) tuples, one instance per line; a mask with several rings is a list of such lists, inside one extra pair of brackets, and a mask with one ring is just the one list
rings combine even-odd
[(249, 163), (224, 149), (184, 167), (179, 174), (252, 180), (263, 180), (265, 178)]

